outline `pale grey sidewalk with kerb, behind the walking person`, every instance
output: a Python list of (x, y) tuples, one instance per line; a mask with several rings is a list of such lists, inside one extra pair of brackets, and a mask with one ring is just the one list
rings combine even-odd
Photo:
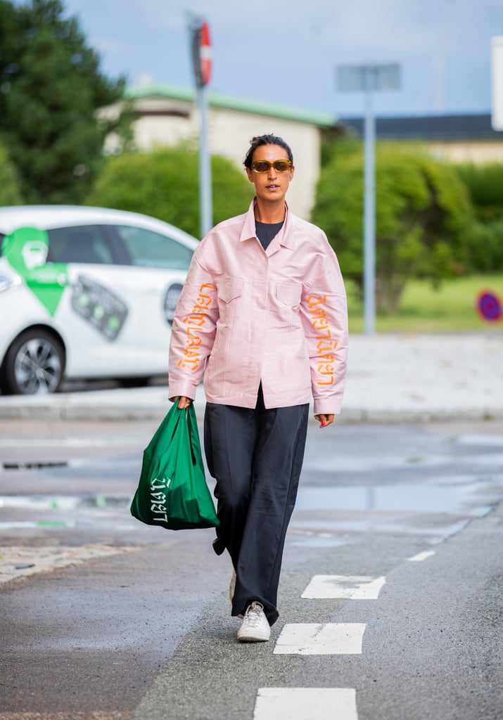
[[(204, 392), (195, 408), (201, 418)], [(0, 396), (0, 420), (148, 420), (166, 387)], [(503, 333), (352, 336), (339, 423), (503, 419)]]

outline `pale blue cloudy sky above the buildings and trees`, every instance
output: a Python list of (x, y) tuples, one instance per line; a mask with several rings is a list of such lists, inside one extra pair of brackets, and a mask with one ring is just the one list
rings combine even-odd
[(335, 117), (362, 116), (339, 66), (399, 63), (401, 88), (373, 95), (378, 116), (491, 112), (491, 37), (503, 0), (62, 0), (102, 71), (129, 86), (194, 86), (189, 14), (208, 21), (209, 89)]

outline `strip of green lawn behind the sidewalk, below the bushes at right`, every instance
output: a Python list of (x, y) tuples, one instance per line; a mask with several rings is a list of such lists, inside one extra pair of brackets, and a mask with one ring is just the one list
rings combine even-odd
[[(486, 322), (478, 314), (476, 304), (482, 291), (497, 294), (503, 302), (503, 275), (481, 275), (447, 280), (440, 289), (414, 280), (406, 285), (400, 310), (396, 315), (378, 315), (378, 333), (450, 333), (499, 330), (503, 320)], [(364, 331), (363, 306), (351, 284), (347, 284), (350, 332)]]

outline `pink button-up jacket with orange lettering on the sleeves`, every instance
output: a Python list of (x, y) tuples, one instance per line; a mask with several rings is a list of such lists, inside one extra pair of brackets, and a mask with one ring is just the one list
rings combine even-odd
[(347, 356), (344, 283), (326, 235), (288, 211), (264, 251), (254, 202), (197, 247), (175, 312), (169, 397), (339, 413)]

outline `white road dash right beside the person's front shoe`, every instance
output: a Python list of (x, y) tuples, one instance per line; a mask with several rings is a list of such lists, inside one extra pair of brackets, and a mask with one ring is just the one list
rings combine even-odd
[(360, 655), (365, 623), (289, 623), (277, 639), (280, 655)]

